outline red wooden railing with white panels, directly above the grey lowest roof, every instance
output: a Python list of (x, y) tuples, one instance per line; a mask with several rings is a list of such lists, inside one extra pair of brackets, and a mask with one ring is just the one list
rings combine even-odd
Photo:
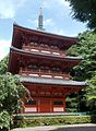
[(36, 71), (20, 71), (20, 75), (35, 76), (35, 78), (48, 78), (48, 79), (64, 79), (70, 80), (70, 74), (52, 73), (52, 72), (36, 72)]

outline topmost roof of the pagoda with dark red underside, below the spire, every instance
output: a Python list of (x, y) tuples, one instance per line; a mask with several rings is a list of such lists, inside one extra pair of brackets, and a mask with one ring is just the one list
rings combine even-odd
[(12, 46), (21, 48), (23, 43), (31, 41), (46, 43), (51, 45), (53, 44), (60, 46), (63, 49), (68, 49), (70, 46), (76, 44), (77, 38), (31, 29), (17, 24), (13, 24)]

